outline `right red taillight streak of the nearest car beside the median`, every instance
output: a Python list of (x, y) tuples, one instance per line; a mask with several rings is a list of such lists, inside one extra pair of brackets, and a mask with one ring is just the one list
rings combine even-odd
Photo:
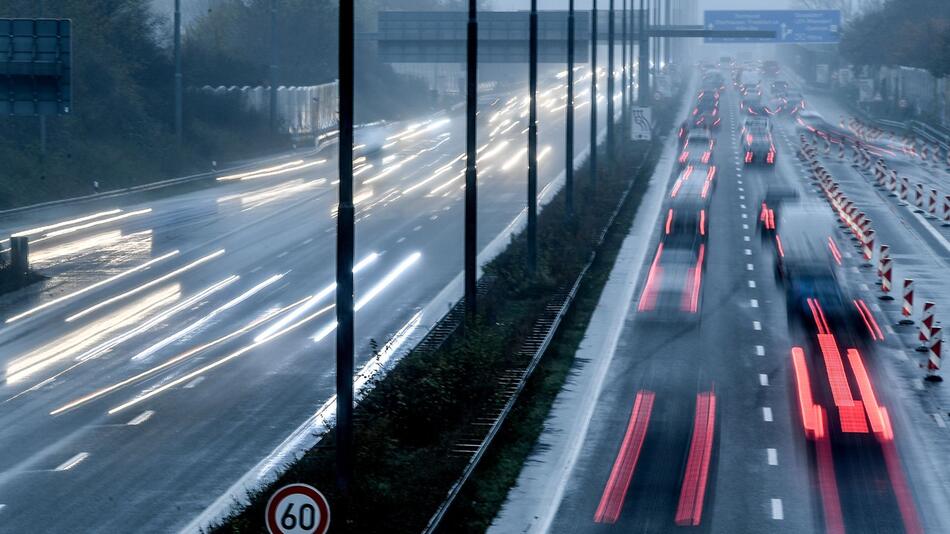
[(676, 506), (677, 525), (699, 525), (709, 479), (709, 462), (716, 432), (716, 395), (707, 391), (696, 396), (693, 437), (689, 445), (683, 486)]

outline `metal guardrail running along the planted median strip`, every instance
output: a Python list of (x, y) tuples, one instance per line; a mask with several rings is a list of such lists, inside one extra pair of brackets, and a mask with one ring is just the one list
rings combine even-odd
[[(637, 166), (635, 172), (637, 179), (639, 179), (643, 165), (652, 156), (654, 146), (655, 145), (650, 146), (650, 149), (644, 154), (643, 159)], [(607, 220), (607, 224), (604, 225), (603, 230), (598, 236), (594, 250), (591, 251), (590, 258), (588, 258), (584, 268), (581, 269), (581, 272), (577, 275), (574, 283), (566, 291), (558, 291), (549, 301), (547, 306), (545, 306), (545, 312), (542, 314), (542, 316), (535, 321), (535, 324), (531, 329), (531, 334), (522, 343), (521, 349), (518, 351), (519, 355), (530, 355), (530, 360), (523, 369), (511, 369), (501, 379), (501, 382), (508, 386), (508, 388), (503, 391), (503, 394), (507, 396), (504, 406), (497, 413), (493, 414), (493, 417), (483, 418), (476, 422), (476, 425), (479, 425), (480, 427), (487, 426), (487, 432), (481, 438), (479, 443), (461, 443), (457, 445), (454, 452), (458, 454), (471, 454), (471, 458), (469, 459), (468, 464), (465, 466), (465, 470), (462, 472), (462, 475), (458, 478), (458, 480), (455, 481), (452, 487), (449, 488), (445, 499), (439, 505), (439, 508), (436, 510), (435, 514), (433, 514), (432, 518), (429, 519), (425, 530), (423, 530), (424, 534), (433, 534), (437, 531), (442, 520), (445, 518), (446, 513), (452, 507), (452, 504), (455, 502), (455, 499), (461, 492), (462, 487), (465, 485), (468, 479), (471, 478), (472, 473), (475, 472), (475, 468), (478, 467), (479, 462), (481, 462), (485, 453), (488, 451), (492, 441), (498, 435), (498, 432), (504, 425), (508, 415), (511, 413), (512, 409), (514, 409), (518, 397), (524, 390), (525, 385), (528, 383), (528, 380), (534, 373), (538, 363), (540, 363), (542, 356), (544, 356), (544, 353), (550, 346), (555, 334), (557, 334), (558, 328), (561, 325), (561, 321), (570, 310), (571, 304), (573, 304), (574, 298), (577, 296), (577, 291), (580, 288), (584, 278), (587, 276), (587, 271), (590, 270), (591, 265), (593, 265), (594, 260), (597, 258), (597, 250), (601, 247), (601, 245), (603, 245), (604, 240), (607, 237), (607, 232), (613, 227), (617, 215), (626, 205), (627, 198), (630, 196), (630, 192), (633, 190), (633, 185), (635, 183), (636, 179), (632, 180), (630, 185), (628, 185), (626, 190), (624, 190), (624, 193), (620, 198), (620, 202), (617, 203), (617, 207), (614, 209), (613, 213), (611, 213), (610, 218)]]

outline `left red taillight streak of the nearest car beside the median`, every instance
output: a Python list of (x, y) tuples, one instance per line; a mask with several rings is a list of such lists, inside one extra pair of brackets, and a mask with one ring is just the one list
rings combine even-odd
[(624, 434), (620, 452), (614, 460), (610, 477), (600, 497), (600, 504), (594, 513), (597, 523), (616, 523), (623, 508), (623, 501), (627, 498), (630, 481), (633, 480), (633, 471), (637, 467), (643, 441), (646, 438), (647, 428), (650, 425), (650, 414), (653, 412), (655, 395), (652, 391), (638, 391), (633, 403), (633, 412), (627, 423), (627, 432)]

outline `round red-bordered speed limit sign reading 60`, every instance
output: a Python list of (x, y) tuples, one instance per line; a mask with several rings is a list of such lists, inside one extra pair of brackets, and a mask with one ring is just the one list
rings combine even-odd
[(290, 484), (274, 493), (264, 512), (270, 534), (325, 534), (330, 528), (330, 504), (316, 488)]

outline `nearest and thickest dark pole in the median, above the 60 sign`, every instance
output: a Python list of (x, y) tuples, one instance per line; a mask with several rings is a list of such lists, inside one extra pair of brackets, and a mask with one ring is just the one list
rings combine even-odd
[[(336, 234), (336, 469), (344, 514), (353, 476), (353, 0), (340, 0), (340, 204)], [(346, 516), (344, 515), (344, 521)]]

